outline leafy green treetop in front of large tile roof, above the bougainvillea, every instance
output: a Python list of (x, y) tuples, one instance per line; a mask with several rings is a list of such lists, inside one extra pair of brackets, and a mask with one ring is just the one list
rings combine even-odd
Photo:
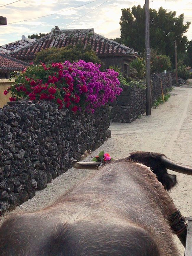
[(75, 62), (79, 61), (80, 59), (86, 62), (91, 61), (93, 63), (102, 64), (90, 46), (87, 46), (84, 49), (81, 44), (77, 44), (76, 46), (44, 49), (36, 55), (34, 63), (38, 64), (42, 61), (45, 64), (49, 64), (52, 62), (64, 62), (66, 60)]

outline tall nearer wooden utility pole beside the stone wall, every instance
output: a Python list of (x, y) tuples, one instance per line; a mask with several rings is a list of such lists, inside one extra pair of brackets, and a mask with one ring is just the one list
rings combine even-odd
[(145, 0), (145, 48), (146, 48), (146, 95), (147, 95), (146, 112), (147, 112), (147, 116), (151, 116), (149, 0)]

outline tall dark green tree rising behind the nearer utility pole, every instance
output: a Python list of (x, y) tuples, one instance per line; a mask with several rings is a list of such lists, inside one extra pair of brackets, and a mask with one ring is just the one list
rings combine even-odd
[[(134, 48), (136, 51), (144, 52), (145, 49), (145, 7), (134, 5), (131, 9), (122, 9), (120, 20), (121, 43)], [(176, 12), (167, 12), (160, 7), (157, 11), (150, 9), (150, 43), (151, 47), (157, 50), (158, 54), (166, 54), (174, 60), (174, 41), (178, 42), (177, 51), (185, 52), (187, 32), (191, 22), (183, 24), (184, 15), (178, 17)], [(173, 61), (174, 62), (174, 61)]]

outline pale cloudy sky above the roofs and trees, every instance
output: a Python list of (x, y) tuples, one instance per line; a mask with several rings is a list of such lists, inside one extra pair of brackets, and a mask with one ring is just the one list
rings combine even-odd
[[(7, 18), (7, 25), (0, 26), (0, 46), (20, 40), (22, 35), (28, 37), (36, 33), (49, 33), (55, 26), (59, 29), (94, 28), (95, 33), (106, 38), (120, 37), (121, 9), (138, 4), (143, 7), (144, 2), (144, 0), (0, 0), (0, 16)], [(149, 6), (156, 10), (162, 6), (168, 12), (176, 11), (177, 17), (184, 13), (184, 23), (187, 21), (192, 23), (190, 0), (150, 0)], [(188, 40), (192, 40), (192, 24), (185, 35)]]

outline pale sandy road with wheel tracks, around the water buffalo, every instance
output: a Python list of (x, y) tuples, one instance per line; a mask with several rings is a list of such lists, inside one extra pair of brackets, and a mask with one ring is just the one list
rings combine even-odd
[[(141, 150), (164, 153), (173, 160), (192, 166), (192, 87), (174, 88), (171, 94), (169, 101), (152, 109), (152, 116), (143, 115), (131, 124), (111, 123), (112, 137), (87, 156), (85, 161), (90, 161), (101, 150), (110, 153), (113, 158)], [(54, 179), (47, 188), (37, 191), (34, 198), (18, 206), (14, 212), (37, 210), (50, 204), (92, 172), (70, 169)], [(177, 176), (178, 185), (170, 195), (184, 216), (192, 216), (192, 176)], [(177, 237), (175, 241), (180, 255), (184, 256), (183, 246)]]

